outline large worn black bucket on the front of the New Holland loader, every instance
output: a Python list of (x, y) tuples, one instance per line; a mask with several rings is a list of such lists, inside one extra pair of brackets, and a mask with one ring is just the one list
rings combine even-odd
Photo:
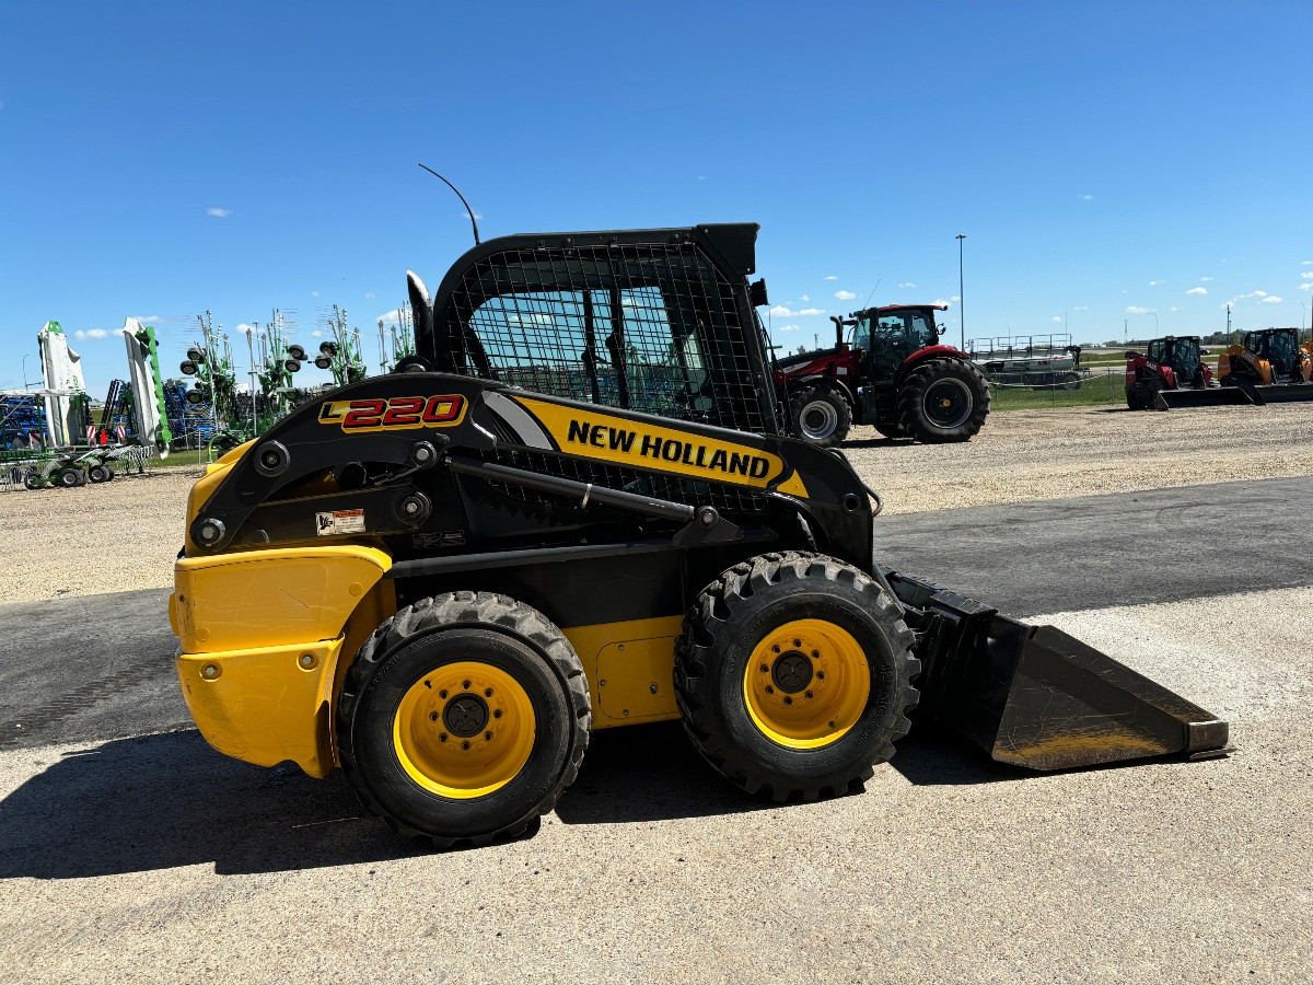
[(1065, 770), (1229, 751), (1226, 722), (1062, 630), (880, 573), (918, 630), (918, 713), (952, 725), (998, 762)]

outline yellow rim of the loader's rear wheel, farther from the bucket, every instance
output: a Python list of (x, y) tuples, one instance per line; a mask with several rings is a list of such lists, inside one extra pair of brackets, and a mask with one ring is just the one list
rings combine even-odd
[(416, 680), (393, 720), (393, 746), (415, 783), (473, 800), (506, 787), (533, 751), (533, 703), (500, 667), (446, 663)]

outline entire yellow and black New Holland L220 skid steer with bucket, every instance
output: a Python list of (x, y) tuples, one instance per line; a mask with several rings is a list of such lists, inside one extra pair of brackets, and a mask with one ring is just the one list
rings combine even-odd
[(206, 739), (340, 766), (397, 831), (517, 835), (592, 729), (679, 718), (750, 793), (856, 788), (910, 713), (1060, 770), (1228, 726), (1052, 626), (873, 556), (880, 500), (784, 436), (756, 226), (507, 236), (416, 355), (196, 483), (169, 616)]

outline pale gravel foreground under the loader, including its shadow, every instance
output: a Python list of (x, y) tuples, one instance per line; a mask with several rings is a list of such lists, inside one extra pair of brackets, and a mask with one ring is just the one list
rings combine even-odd
[[(1229, 759), (1054, 775), (911, 737), (763, 806), (600, 733), (534, 838), (431, 854), (335, 774), (194, 733), (0, 754), (8, 981), (1313, 977), (1313, 590), (1050, 616), (1232, 720)], [(1225, 645), (1212, 642), (1225, 640)], [(1243, 657), (1239, 657), (1242, 654)]]

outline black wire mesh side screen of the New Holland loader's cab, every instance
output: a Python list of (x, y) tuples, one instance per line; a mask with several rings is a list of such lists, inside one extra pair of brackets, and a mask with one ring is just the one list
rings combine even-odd
[(695, 244), (507, 250), (473, 264), (435, 320), (458, 373), (763, 429), (751, 327)]

